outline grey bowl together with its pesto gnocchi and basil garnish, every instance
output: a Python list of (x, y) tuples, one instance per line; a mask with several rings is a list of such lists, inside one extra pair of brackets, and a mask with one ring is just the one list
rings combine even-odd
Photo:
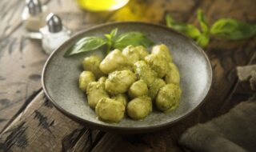
[(211, 83), (210, 61), (193, 40), (143, 22), (84, 30), (54, 50), (42, 71), (43, 90), (63, 114), (132, 134), (182, 120), (202, 104)]

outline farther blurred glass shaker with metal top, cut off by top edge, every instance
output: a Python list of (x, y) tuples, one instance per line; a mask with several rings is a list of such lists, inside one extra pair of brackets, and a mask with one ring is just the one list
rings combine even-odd
[(39, 31), (46, 25), (47, 6), (42, 6), (39, 0), (26, 0), (22, 12), (22, 21), (27, 30)]

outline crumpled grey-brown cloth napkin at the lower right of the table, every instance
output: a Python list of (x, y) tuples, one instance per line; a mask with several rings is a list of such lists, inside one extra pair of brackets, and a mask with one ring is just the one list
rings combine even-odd
[[(247, 68), (238, 69), (238, 78), (250, 81), (255, 90), (256, 72)], [(179, 143), (194, 152), (256, 151), (256, 99), (242, 102), (210, 122), (193, 126), (182, 134)]]

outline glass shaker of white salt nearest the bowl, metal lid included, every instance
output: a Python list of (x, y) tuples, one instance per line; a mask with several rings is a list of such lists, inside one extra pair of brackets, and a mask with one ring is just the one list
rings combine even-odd
[(62, 26), (62, 20), (58, 15), (50, 13), (46, 18), (46, 26), (40, 29), (42, 34), (42, 48), (47, 54), (61, 46), (70, 38), (70, 30)]

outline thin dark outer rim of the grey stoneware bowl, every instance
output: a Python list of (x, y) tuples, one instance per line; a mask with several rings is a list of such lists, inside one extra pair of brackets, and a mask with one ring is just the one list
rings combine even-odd
[[(206, 95), (204, 96), (204, 98), (202, 99), (201, 102), (199, 102), (199, 104), (197, 106), (194, 107), (193, 110), (190, 110), (190, 112), (188, 112), (187, 114), (182, 115), (180, 118), (175, 119), (172, 122), (166, 122), (165, 124), (160, 124), (158, 126), (145, 126), (145, 127), (139, 127), (139, 128), (130, 128), (130, 127), (118, 127), (118, 126), (105, 126), (103, 124), (98, 124), (98, 123), (94, 123), (94, 122), (90, 122), (86, 119), (83, 118), (79, 118), (78, 116), (76, 116), (75, 114), (71, 114), (68, 110), (65, 110), (62, 108), (62, 106), (58, 105), (57, 102), (54, 101), (53, 98), (50, 97), (50, 94), (48, 94), (48, 91), (46, 89), (46, 81), (45, 81), (45, 72), (46, 72), (46, 68), (49, 65), (49, 62), (51, 60), (51, 58), (54, 56), (54, 54), (60, 50), (62, 50), (63, 46), (68, 45), (70, 42), (73, 42), (74, 39), (78, 38), (79, 35), (86, 33), (87, 31), (90, 30), (95, 30), (98, 28), (102, 28), (104, 26), (114, 26), (114, 25), (118, 25), (118, 24), (142, 24), (144, 26), (156, 26), (157, 28), (162, 28), (164, 30), (170, 30), (171, 32), (175, 33), (175, 34), (179, 34), (182, 35), (182, 37), (186, 38), (186, 41), (190, 42), (191, 45), (195, 46), (197, 48), (197, 50), (202, 53), (202, 55), (206, 58), (206, 62), (208, 64), (208, 67), (210, 69), (209, 70), (209, 74), (210, 74), (210, 78), (208, 83), (210, 83), (209, 88), (206, 92)], [(105, 23), (105, 24), (101, 24), (98, 26), (93, 26), (91, 28), (88, 28), (86, 30), (82, 30), (81, 32), (78, 32), (78, 34), (74, 34), (74, 36), (72, 36), (69, 40), (67, 40), (66, 42), (64, 42), (62, 44), (62, 46), (59, 46), (58, 49), (54, 50), (49, 58), (47, 58), (45, 65), (43, 66), (43, 70), (42, 70), (42, 89), (44, 90), (44, 93), (46, 94), (46, 97), (50, 100), (50, 102), (52, 102), (54, 104), (54, 106), (60, 111), (62, 112), (62, 114), (65, 114), (67, 117), (75, 120), (76, 122), (80, 122), (82, 124), (85, 124), (86, 126), (90, 126), (92, 128), (96, 128), (99, 130), (105, 130), (105, 131), (110, 131), (110, 132), (115, 132), (115, 133), (122, 133), (122, 134), (139, 134), (139, 133), (146, 133), (146, 132), (152, 132), (155, 130), (160, 130), (163, 128), (166, 128), (167, 126), (170, 126), (171, 124), (173, 124), (174, 122), (178, 122), (180, 120), (182, 120), (183, 118), (186, 118), (188, 115), (192, 114), (194, 112), (194, 110), (197, 110), (199, 106), (202, 105), (202, 103), (206, 100), (206, 98), (209, 96), (210, 90), (211, 90), (211, 86), (213, 83), (213, 71), (212, 71), (212, 66), (210, 63), (209, 58), (207, 57), (206, 53), (202, 50), (201, 47), (199, 47), (194, 40), (192, 40), (191, 38), (186, 37), (184, 34), (179, 33), (176, 30), (170, 29), (169, 27), (166, 26), (162, 26), (162, 25), (158, 25), (158, 24), (153, 24), (153, 23), (148, 23), (148, 22), (110, 22), (110, 23)]]

